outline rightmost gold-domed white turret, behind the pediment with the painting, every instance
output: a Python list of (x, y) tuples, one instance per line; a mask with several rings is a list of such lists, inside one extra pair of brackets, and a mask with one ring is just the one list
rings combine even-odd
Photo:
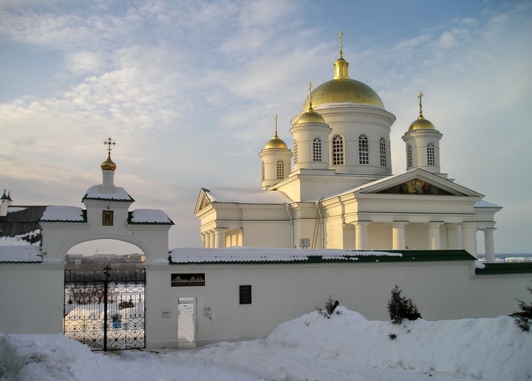
[(419, 117), (409, 127), (403, 140), (406, 143), (406, 170), (421, 168), (440, 175), (440, 139), (442, 134), (423, 117), (419, 93)]

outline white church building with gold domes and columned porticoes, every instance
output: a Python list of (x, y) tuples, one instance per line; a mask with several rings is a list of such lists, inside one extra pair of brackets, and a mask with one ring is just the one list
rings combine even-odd
[(501, 207), (441, 172), (442, 133), (423, 116), (423, 94), (419, 117), (402, 137), (406, 172), (394, 175), (395, 116), (349, 77), (341, 36), (339, 55), (333, 79), (312, 90), (292, 118), (292, 150), (277, 136), (276, 117), (275, 135), (259, 153), (261, 189), (201, 189), (194, 213), (202, 247), (463, 248), (477, 256), (482, 231), (493, 262)]

